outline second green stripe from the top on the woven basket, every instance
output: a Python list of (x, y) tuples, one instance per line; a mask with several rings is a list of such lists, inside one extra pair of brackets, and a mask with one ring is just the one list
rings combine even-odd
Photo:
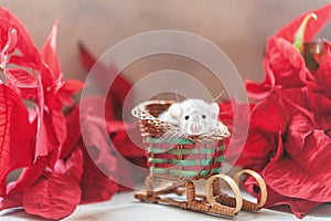
[[(220, 150), (224, 150), (224, 146), (220, 146)], [(194, 149), (164, 149), (158, 147), (149, 147), (147, 149), (149, 154), (162, 154), (168, 152), (171, 155), (196, 155), (196, 154), (213, 154), (216, 151), (216, 148), (194, 148)]]

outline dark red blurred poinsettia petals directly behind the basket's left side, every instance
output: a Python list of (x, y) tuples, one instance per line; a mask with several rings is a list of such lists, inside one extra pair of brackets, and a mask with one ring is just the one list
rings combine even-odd
[[(103, 93), (107, 94), (107, 101), (111, 104), (106, 108), (108, 110), (106, 115), (110, 119), (110, 124), (106, 124), (106, 126), (108, 127), (108, 133), (113, 134), (114, 147), (129, 161), (146, 167), (145, 150), (140, 148), (142, 144), (134, 144), (131, 141), (132, 139), (141, 143), (138, 124), (125, 126), (121, 122), (125, 102), (128, 102), (129, 106), (134, 106), (132, 101), (127, 96), (131, 90), (131, 84), (122, 75), (118, 74), (113, 66), (107, 69), (100, 62), (96, 62), (96, 59), (82, 43), (79, 43), (79, 51), (84, 67), (95, 77)], [(109, 82), (113, 82), (113, 84), (109, 92), (107, 92)], [(129, 101), (126, 101), (127, 98)], [(130, 134), (131, 138), (129, 138), (128, 134)]]

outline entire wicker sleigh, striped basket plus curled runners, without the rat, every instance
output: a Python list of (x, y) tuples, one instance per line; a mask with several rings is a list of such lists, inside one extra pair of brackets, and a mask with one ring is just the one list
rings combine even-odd
[[(224, 139), (229, 137), (229, 133), (171, 136), (172, 133), (175, 135), (177, 126), (158, 119), (158, 116), (172, 103), (149, 101), (132, 109), (132, 115), (139, 120), (150, 168), (146, 178), (146, 190), (136, 192), (135, 197), (145, 202), (170, 204), (226, 217), (234, 217), (241, 210), (254, 212), (260, 210), (266, 202), (267, 190), (257, 172), (245, 169), (231, 178), (221, 171)], [(260, 189), (257, 202), (243, 199), (238, 187), (242, 175), (252, 176), (257, 180)], [(205, 194), (195, 191), (196, 180), (205, 180)], [(222, 192), (221, 180), (231, 187), (234, 197)]]

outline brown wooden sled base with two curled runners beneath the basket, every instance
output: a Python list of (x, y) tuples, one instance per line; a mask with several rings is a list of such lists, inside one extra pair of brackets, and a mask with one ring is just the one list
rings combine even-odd
[[(135, 198), (142, 202), (169, 204), (184, 210), (225, 217), (234, 217), (241, 210), (257, 212), (266, 202), (266, 186), (260, 176), (253, 170), (242, 170), (235, 176), (238, 178), (241, 173), (249, 173), (254, 177), (257, 177), (261, 191), (261, 197), (258, 202), (255, 203), (243, 199), (237, 182), (227, 175), (223, 173), (214, 175), (206, 180), (205, 194), (195, 193), (194, 183), (191, 180), (185, 180), (177, 187), (167, 188), (163, 190), (153, 191), (147, 189), (146, 191), (138, 191), (135, 193)], [(147, 178), (147, 182), (150, 182), (150, 179), (153, 179), (152, 176)], [(234, 197), (222, 193), (220, 179), (229, 185), (232, 191), (234, 192)], [(181, 189), (182, 187), (184, 190)], [(185, 199), (183, 200), (178, 199), (177, 197), (168, 197), (173, 194), (185, 194)]]

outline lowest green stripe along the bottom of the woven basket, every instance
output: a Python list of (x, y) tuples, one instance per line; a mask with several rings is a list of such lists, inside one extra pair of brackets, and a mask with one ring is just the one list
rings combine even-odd
[[(197, 171), (193, 171), (193, 170), (178, 170), (178, 169), (162, 169), (162, 168), (154, 168), (151, 167), (150, 168), (151, 172), (153, 173), (158, 173), (158, 175), (170, 175), (170, 176), (175, 176), (175, 177), (196, 177), (197, 176)], [(211, 170), (202, 170), (201, 171), (201, 177), (205, 177), (211, 172)], [(220, 173), (221, 172), (221, 168), (214, 168), (212, 170), (212, 173)]]

